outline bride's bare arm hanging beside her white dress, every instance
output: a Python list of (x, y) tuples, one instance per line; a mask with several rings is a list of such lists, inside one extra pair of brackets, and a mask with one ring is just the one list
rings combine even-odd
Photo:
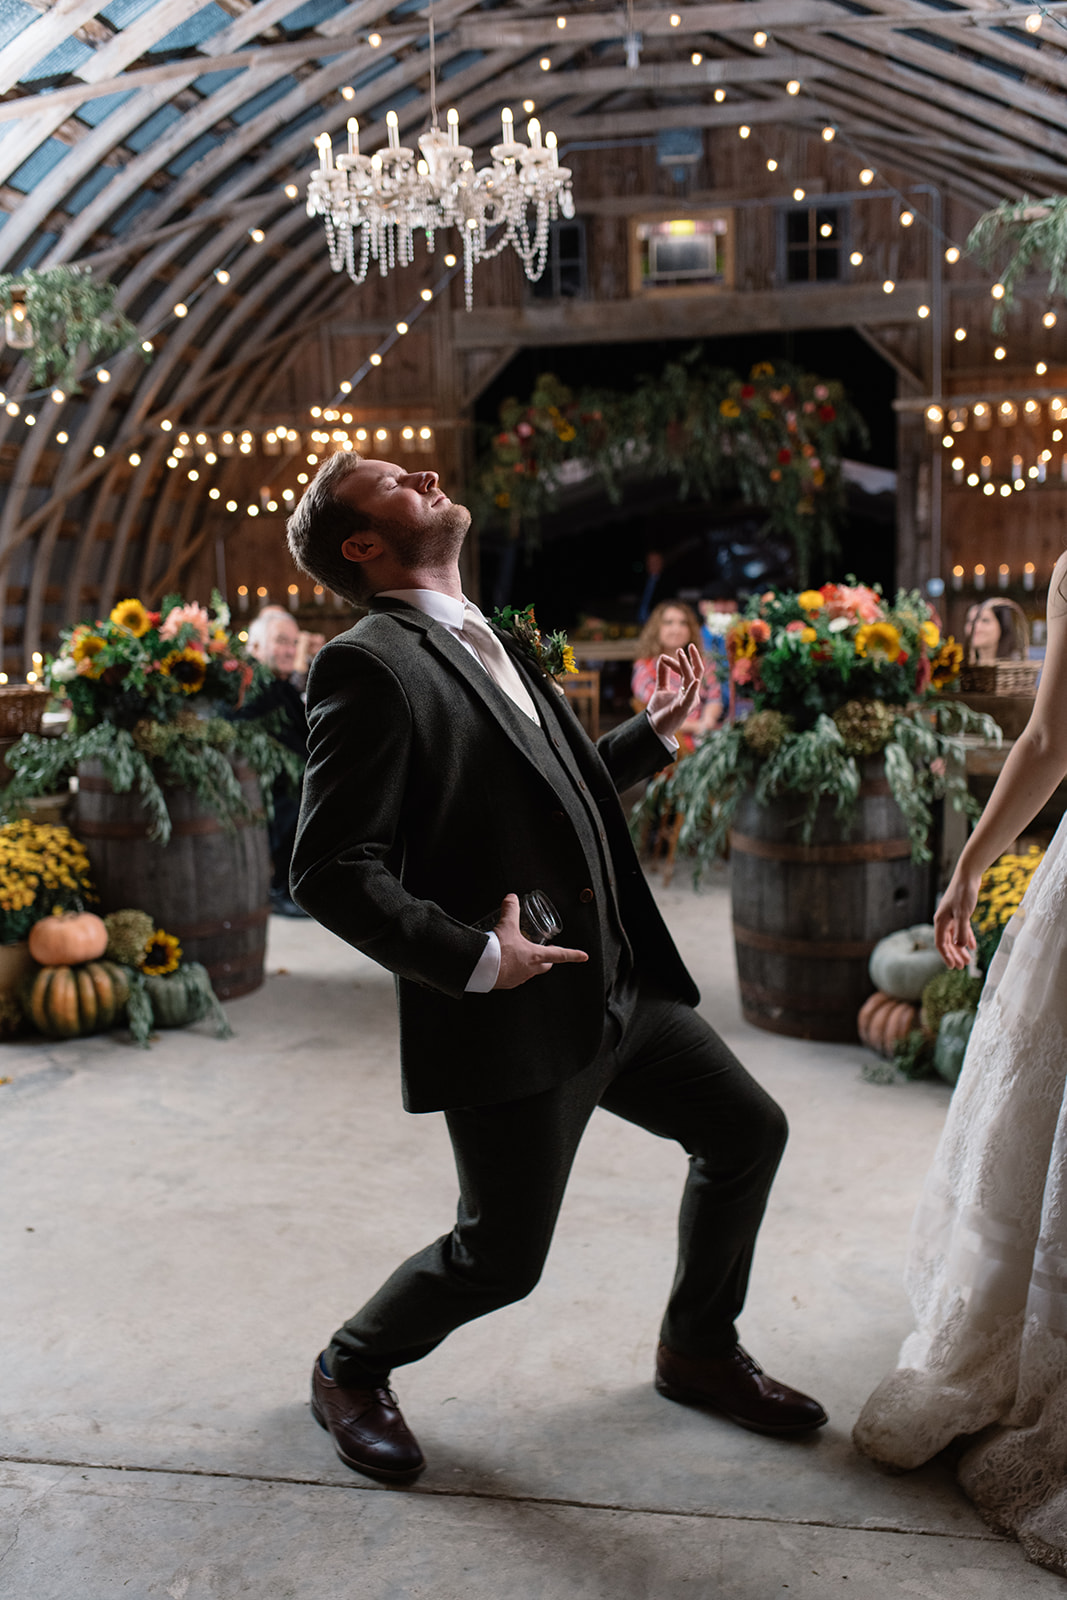
[(1005, 762), (982, 816), (960, 853), (934, 930), (949, 966), (974, 954), (971, 915), (982, 872), (1033, 821), (1067, 774), (1067, 554), (1048, 587), (1048, 650), (1030, 720)]

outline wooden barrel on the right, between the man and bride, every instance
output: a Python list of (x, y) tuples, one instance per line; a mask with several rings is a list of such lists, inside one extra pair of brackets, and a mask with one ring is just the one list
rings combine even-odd
[(741, 1008), (747, 1022), (792, 1038), (848, 1043), (873, 986), (878, 939), (929, 922), (931, 866), (915, 866), (901, 808), (880, 762), (867, 763), (848, 837), (830, 803), (811, 843), (793, 798), (737, 808), (731, 898)]

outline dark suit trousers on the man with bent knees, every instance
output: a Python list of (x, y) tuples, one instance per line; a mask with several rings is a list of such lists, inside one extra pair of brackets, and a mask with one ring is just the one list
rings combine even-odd
[(534, 1288), (597, 1106), (677, 1139), (689, 1157), (664, 1344), (681, 1355), (733, 1349), (785, 1117), (691, 1006), (646, 989), (619, 998), (597, 1059), (577, 1077), (445, 1114), (459, 1173), (456, 1226), (334, 1333), (326, 1366), (339, 1384), (362, 1387), (418, 1362), (453, 1328)]

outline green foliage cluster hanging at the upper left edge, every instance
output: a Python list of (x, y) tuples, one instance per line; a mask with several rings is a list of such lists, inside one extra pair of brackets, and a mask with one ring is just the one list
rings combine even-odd
[[(141, 346), (141, 333), (115, 310), (115, 285), (96, 282), (91, 267), (27, 267), (0, 274), (0, 314), (24, 307), (32, 331), (26, 347), (34, 384), (78, 392), (77, 371), (118, 350)], [(141, 350), (149, 360), (150, 350)]]

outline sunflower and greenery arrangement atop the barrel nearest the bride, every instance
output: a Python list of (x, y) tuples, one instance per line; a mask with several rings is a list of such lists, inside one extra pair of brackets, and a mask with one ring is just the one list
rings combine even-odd
[(1000, 742), (992, 718), (941, 698), (958, 678), (961, 659), (918, 592), (901, 590), (889, 603), (877, 587), (854, 581), (800, 594), (771, 590), (726, 634), (731, 699), (742, 688), (752, 714), (709, 734), (651, 786), (637, 818), (664, 800), (681, 811), (678, 843), (696, 850), (699, 874), (726, 848), (747, 787), (763, 805), (800, 797), (806, 842), (822, 800), (835, 805), (848, 830), (861, 765), (881, 757), (912, 858), (929, 861), (934, 800), (974, 811), (961, 736)]

